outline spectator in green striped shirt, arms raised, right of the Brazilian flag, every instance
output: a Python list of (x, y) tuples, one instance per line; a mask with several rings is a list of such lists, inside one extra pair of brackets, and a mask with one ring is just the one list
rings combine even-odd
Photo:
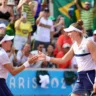
[(77, 8), (80, 10), (81, 19), (84, 23), (84, 28), (87, 31), (88, 36), (92, 36), (93, 32), (93, 18), (96, 8), (91, 8), (90, 2), (85, 2), (84, 7), (81, 7), (78, 0), (75, 0)]

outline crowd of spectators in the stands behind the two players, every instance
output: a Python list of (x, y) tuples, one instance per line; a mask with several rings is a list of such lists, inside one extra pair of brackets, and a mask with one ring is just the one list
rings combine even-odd
[[(84, 34), (96, 42), (96, 30), (92, 32), (94, 10), (89, 2), (84, 8), (78, 5), (84, 23)], [(49, 0), (1, 0), (0, 3), (0, 37), (14, 35), (12, 49), (8, 56), (13, 66), (22, 65), (31, 55), (39, 51), (51, 57), (62, 58), (74, 43), (64, 32), (64, 17), (54, 18), (50, 14)], [(89, 37), (91, 36), (91, 37)], [(72, 68), (77, 69), (75, 57), (66, 64), (52, 64), (38, 61), (31, 68)]]

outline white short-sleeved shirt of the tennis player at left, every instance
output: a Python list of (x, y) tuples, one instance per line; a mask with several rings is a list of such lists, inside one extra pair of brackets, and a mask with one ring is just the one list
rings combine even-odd
[(5, 50), (0, 48), (0, 78), (4, 79), (8, 76), (8, 70), (4, 67), (5, 64), (11, 64), (11, 62)]

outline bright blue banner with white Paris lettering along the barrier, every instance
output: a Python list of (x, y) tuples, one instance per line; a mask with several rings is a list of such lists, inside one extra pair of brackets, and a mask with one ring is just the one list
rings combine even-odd
[(64, 82), (64, 71), (48, 71), (50, 84), (41, 88), (36, 83), (36, 70), (25, 70), (16, 76), (9, 74), (7, 84), (14, 95), (20, 96), (68, 96), (72, 86)]

